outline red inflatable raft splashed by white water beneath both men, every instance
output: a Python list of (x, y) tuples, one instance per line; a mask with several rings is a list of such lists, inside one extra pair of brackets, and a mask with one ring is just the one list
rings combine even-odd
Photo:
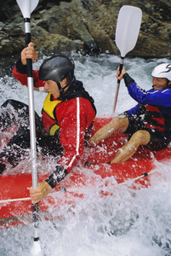
[[(94, 122), (93, 134), (101, 126), (107, 124), (111, 118), (98, 117)], [(7, 141), (11, 132), (3, 133), (1, 144)], [(95, 148), (85, 148), (83, 156), (73, 172), (71, 172), (55, 190), (39, 203), (40, 212), (48, 211), (48, 207), (74, 205), (77, 198), (83, 198), (86, 190), (91, 187), (99, 191), (100, 196), (112, 195), (121, 184), (134, 186), (149, 186), (149, 174), (154, 174), (157, 162), (171, 159), (171, 149), (165, 148), (158, 152), (151, 152), (146, 148), (139, 148), (134, 157), (124, 163), (107, 164), (115, 156), (117, 149), (126, 142), (127, 137), (122, 133), (115, 133), (112, 137), (100, 143)], [(32, 210), (28, 187), (31, 187), (30, 170), (22, 173), (19, 167), (17, 173), (4, 172), (0, 177), (0, 228), (25, 223), (26, 216)], [(48, 173), (38, 173), (38, 181), (48, 177)], [(138, 184), (138, 185), (137, 185)], [(46, 214), (46, 213), (45, 213)]]

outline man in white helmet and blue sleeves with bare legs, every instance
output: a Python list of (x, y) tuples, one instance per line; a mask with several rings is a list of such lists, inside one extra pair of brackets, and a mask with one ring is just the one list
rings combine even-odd
[(126, 73), (117, 69), (117, 79), (124, 79), (128, 94), (138, 104), (97, 131), (88, 141), (89, 147), (105, 140), (115, 131), (128, 135), (128, 143), (118, 150), (111, 163), (127, 161), (140, 145), (153, 151), (166, 148), (171, 142), (171, 64), (162, 63), (151, 73), (152, 89), (141, 89)]

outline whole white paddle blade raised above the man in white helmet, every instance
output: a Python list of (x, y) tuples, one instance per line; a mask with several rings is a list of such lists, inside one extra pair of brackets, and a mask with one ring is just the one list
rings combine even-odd
[(141, 18), (141, 9), (134, 6), (123, 5), (119, 11), (116, 44), (122, 57), (134, 49), (140, 32)]

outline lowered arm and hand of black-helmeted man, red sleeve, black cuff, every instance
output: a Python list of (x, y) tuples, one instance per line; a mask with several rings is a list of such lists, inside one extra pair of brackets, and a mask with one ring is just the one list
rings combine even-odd
[[(83, 101), (83, 103), (80, 101)], [(48, 195), (48, 192), (71, 172), (71, 169), (76, 166), (77, 161), (83, 154), (85, 131), (95, 115), (90, 103), (88, 105), (89, 109), (84, 108), (86, 104), (84, 101), (87, 100), (75, 98), (68, 102), (61, 102), (63, 105), (61, 111), (59, 111), (62, 116), (62, 118), (59, 117), (60, 143), (64, 154), (47, 180), (39, 183), (37, 189), (30, 189), (33, 203)]]

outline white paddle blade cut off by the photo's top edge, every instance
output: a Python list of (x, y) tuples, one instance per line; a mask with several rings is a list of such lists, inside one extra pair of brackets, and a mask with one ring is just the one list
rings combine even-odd
[(31, 18), (31, 12), (37, 7), (39, 0), (16, 0), (24, 18)]

